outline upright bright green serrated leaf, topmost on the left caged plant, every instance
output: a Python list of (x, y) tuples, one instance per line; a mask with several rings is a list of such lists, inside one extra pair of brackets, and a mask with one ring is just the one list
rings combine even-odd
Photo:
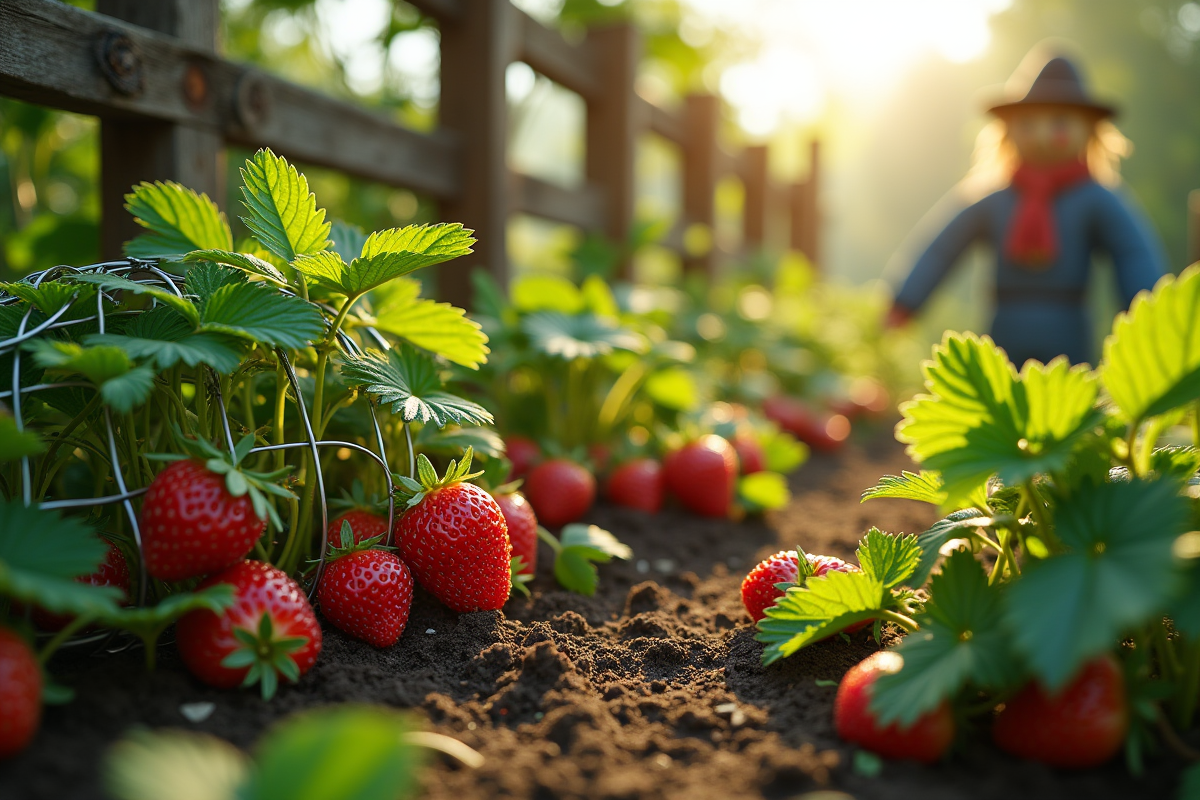
[(263, 247), (292, 263), (329, 246), (325, 210), (317, 207), (308, 180), (287, 160), (264, 148), (246, 161), (241, 179), (247, 212), (241, 221)]

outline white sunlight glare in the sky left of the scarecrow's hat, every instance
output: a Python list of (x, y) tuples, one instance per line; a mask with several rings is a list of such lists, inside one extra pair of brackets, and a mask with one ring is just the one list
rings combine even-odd
[(929, 56), (954, 64), (991, 42), (988, 23), (1010, 0), (685, 0), (714, 28), (761, 43), (728, 67), (720, 90), (751, 134), (816, 119), (830, 97), (878, 101)]

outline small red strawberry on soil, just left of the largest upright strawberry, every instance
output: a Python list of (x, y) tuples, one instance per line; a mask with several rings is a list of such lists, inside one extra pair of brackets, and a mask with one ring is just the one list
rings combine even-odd
[(377, 648), (400, 639), (413, 607), (413, 576), (394, 553), (376, 549), (379, 537), (355, 542), (347, 524), (320, 576), (320, 612), (338, 630)]

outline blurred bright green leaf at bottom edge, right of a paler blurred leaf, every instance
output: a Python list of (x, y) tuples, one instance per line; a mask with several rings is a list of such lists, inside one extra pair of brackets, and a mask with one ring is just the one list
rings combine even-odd
[(406, 717), (379, 706), (310, 711), (258, 745), (252, 800), (396, 800), (410, 794), (419, 759)]

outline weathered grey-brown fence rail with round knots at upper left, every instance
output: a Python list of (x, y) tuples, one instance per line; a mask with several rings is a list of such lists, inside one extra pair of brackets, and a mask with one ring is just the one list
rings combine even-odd
[[(121, 94), (101, 73), (96, 43), (109, 31), (125, 35), (138, 54), (142, 88), (133, 94)], [(227, 142), (270, 146), (307, 164), (437, 198), (460, 188), (450, 134), (410, 131), (172, 37), (53, 0), (0, 2), (0, 94), (106, 119), (210, 130)]]

